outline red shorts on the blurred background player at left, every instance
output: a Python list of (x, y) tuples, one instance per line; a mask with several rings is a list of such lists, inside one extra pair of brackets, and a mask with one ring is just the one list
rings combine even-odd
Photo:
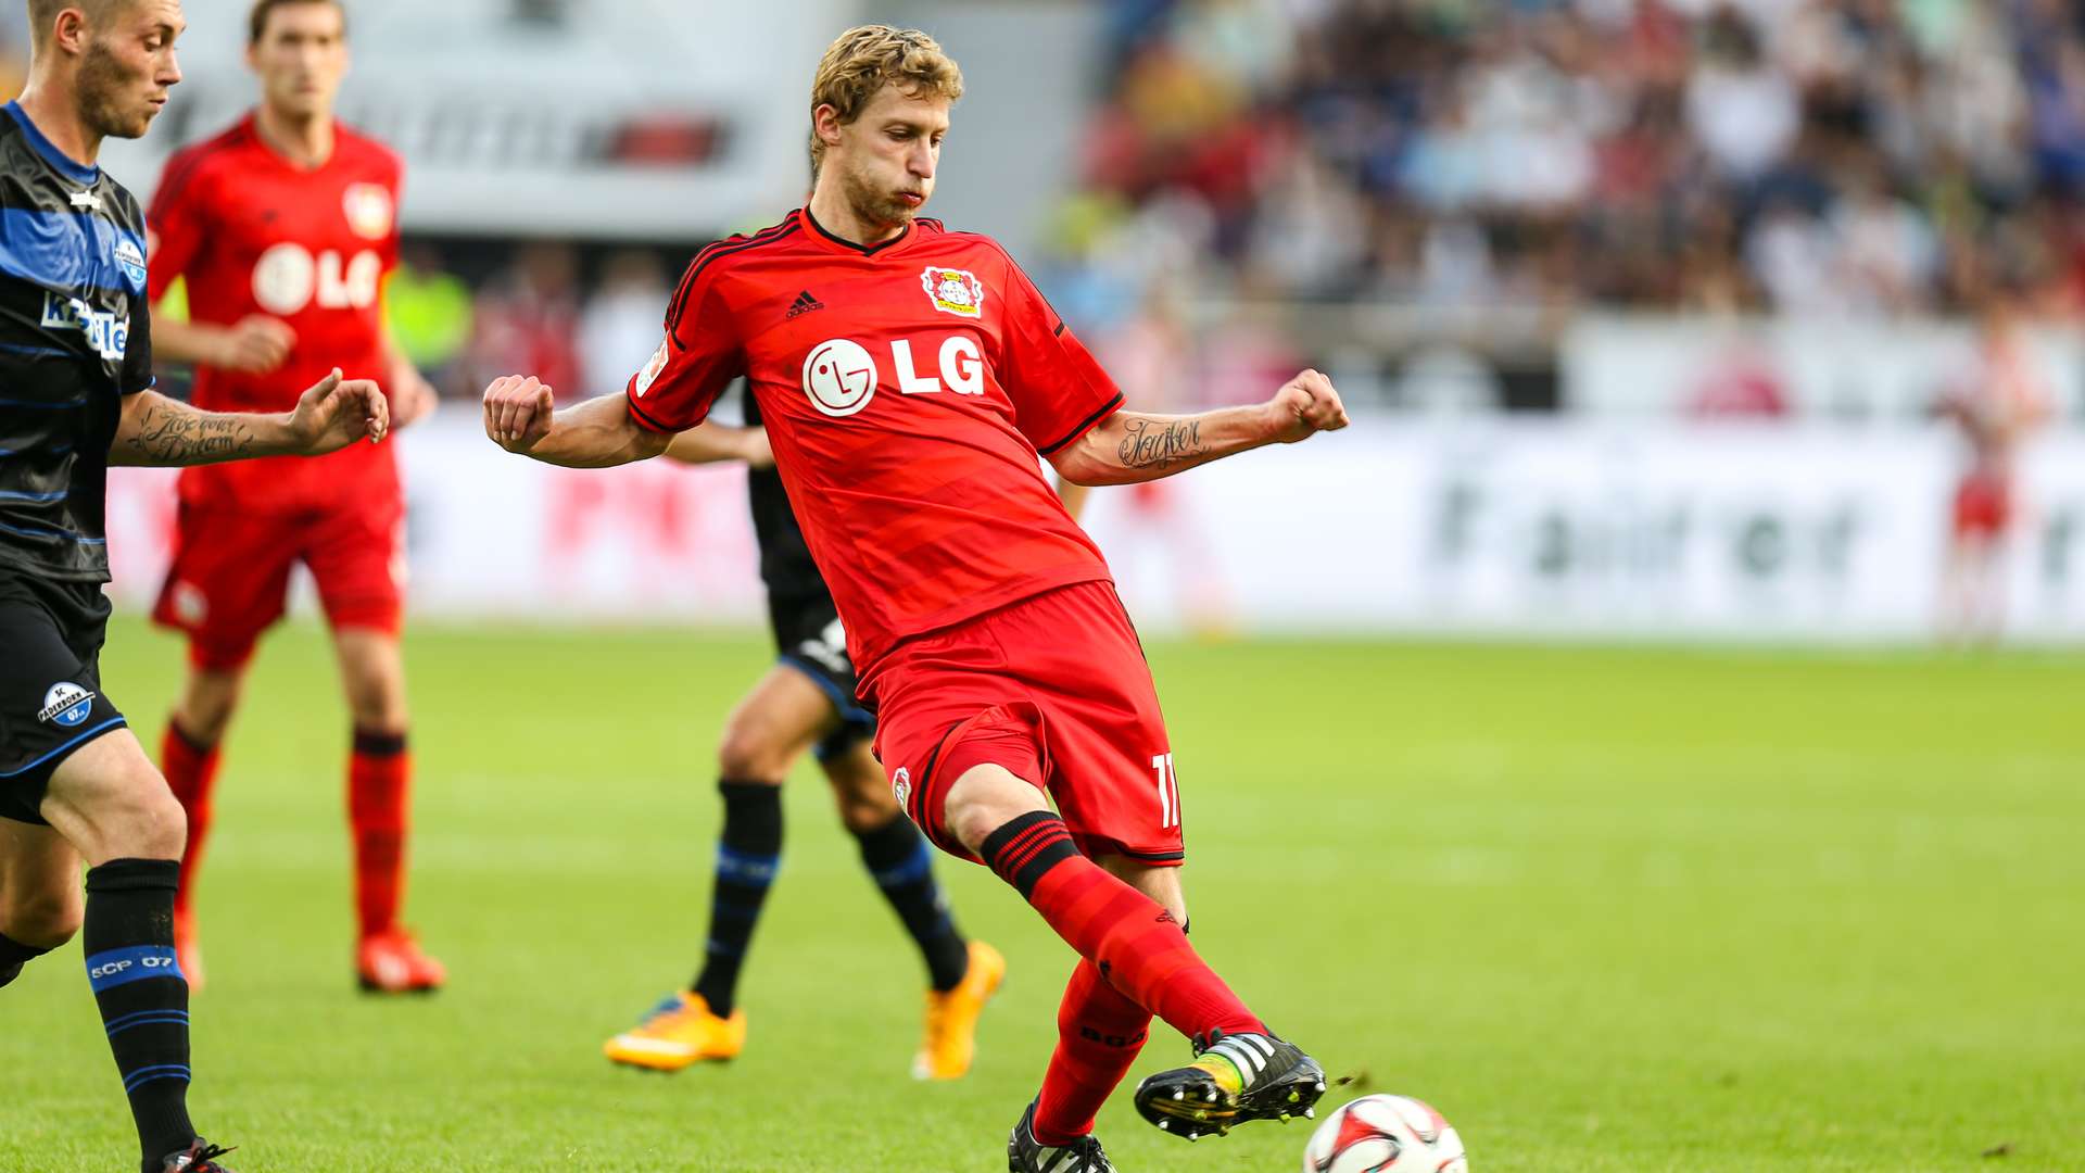
[(188, 632), (188, 662), (206, 670), (246, 664), (281, 618), (290, 568), (319, 584), (334, 628), (398, 635), (404, 618), (404, 505), (246, 513), (181, 505), (173, 566), (152, 622)]

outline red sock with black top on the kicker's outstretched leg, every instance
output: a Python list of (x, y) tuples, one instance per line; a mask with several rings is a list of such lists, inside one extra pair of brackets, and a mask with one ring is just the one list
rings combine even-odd
[(984, 862), (1011, 883), (1099, 977), (1186, 1037), (1268, 1027), (1186, 943), (1172, 912), (1078, 854), (1063, 820), (1024, 814), (984, 841)]

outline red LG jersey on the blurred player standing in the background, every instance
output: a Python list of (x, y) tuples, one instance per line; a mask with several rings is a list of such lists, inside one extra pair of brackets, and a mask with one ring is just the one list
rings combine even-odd
[[(150, 298), (188, 278), (188, 317), (231, 326), (265, 313), (296, 330), (281, 367), (250, 376), (196, 367), (196, 407), (288, 411), (340, 367), (388, 380), (384, 278), (398, 263), (398, 157), (342, 125), (334, 154), (300, 169), (271, 150), (248, 115), (167, 161), (146, 211)], [(259, 511), (302, 511), (400, 495), (390, 445), (181, 470), (181, 499)]]

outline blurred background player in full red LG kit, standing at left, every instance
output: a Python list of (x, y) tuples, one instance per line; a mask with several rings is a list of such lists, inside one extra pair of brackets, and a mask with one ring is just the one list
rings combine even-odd
[[(158, 353), (196, 363), (202, 407), (277, 409), (327, 365), (377, 380), (398, 426), (434, 388), (384, 328), (384, 278), (398, 261), (398, 157), (334, 121), (348, 69), (336, 0), (259, 0), (246, 61), (261, 104), (167, 161), (148, 211), (150, 296), (188, 282), (188, 324)], [(404, 495), (390, 447), (317, 461), (248, 461), (181, 474), (179, 532), (154, 620), (188, 632), (188, 683), (167, 722), (167, 783), (188, 810), (175, 939), (202, 983), (194, 881), (211, 831), (219, 743), (254, 643), (281, 618), (290, 568), (311, 570), (334, 626), (354, 720), (348, 818), (354, 833), (357, 971), (371, 991), (444, 981), (398, 923), (404, 891)]]

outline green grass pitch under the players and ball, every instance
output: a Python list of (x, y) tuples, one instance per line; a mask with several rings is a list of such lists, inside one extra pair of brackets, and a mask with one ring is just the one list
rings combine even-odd
[[(1478, 1173), (2085, 1169), (2085, 660), (1157, 643), (1195, 941), (1355, 1090), (1434, 1102)], [(409, 914), (430, 1000), (352, 991), (344, 716), (265, 649), (200, 891), (196, 1119), (271, 1171), (986, 1171), (1070, 952), (940, 860), (1011, 960), (974, 1075), (907, 1079), (922, 973), (805, 768), (751, 1046), (676, 1077), (600, 1039), (692, 968), (755, 635), (421, 626)], [(179, 647), (104, 657), (156, 751)], [(1178, 1062), (1153, 1031), (1132, 1081)], [(0, 994), (0, 1169), (129, 1169), (79, 945)], [(1305, 1127), (1124, 1171), (1291, 1171)]]

